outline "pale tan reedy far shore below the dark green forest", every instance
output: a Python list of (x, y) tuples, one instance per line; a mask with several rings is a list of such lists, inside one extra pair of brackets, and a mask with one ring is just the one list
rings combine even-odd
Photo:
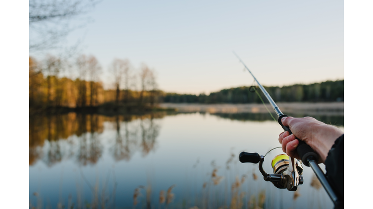
[[(343, 116), (344, 103), (276, 103), (283, 113)], [(274, 113), (270, 104), (267, 108)], [(176, 108), (178, 112), (267, 113), (263, 104), (187, 104), (161, 103), (161, 108)]]

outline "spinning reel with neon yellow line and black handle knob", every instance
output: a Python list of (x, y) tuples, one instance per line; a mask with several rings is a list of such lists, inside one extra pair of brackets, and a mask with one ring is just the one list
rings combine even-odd
[(241, 152), (239, 154), (241, 163), (259, 163), (259, 171), (265, 181), (271, 181), (279, 189), (296, 191), (303, 184), (303, 167), (299, 160), (285, 154), (279, 154), (272, 160), (274, 174), (267, 174), (263, 169), (264, 156), (258, 153)]

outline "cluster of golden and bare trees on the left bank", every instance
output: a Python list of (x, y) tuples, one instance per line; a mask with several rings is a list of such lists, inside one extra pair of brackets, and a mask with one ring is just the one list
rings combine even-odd
[(81, 55), (72, 63), (51, 55), (41, 61), (30, 57), (29, 105), (31, 108), (153, 106), (160, 101), (154, 70), (145, 64), (135, 69), (128, 60), (115, 59), (109, 72), (114, 88), (104, 90), (99, 79), (102, 67), (94, 56)]

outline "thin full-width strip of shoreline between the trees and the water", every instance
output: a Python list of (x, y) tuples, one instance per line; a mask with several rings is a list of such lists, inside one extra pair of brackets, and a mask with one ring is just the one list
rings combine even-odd
[[(292, 115), (323, 115), (323, 116), (343, 116), (343, 102), (322, 102), (322, 103), (277, 103), (283, 113)], [(270, 104), (266, 104), (268, 110), (275, 114)], [(153, 107), (150, 106), (111, 106), (102, 105), (97, 107), (69, 108), (69, 107), (44, 107), (30, 108), (30, 115), (39, 114), (64, 114), (69, 112), (83, 114), (102, 114), (102, 115), (121, 115), (121, 114), (144, 114), (159, 111), (174, 113), (268, 113), (263, 104), (198, 104), (198, 103), (160, 103)]]

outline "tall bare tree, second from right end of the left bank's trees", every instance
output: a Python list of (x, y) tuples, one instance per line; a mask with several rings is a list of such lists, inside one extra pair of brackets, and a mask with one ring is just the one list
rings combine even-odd
[(116, 88), (115, 104), (119, 105), (120, 85), (123, 79), (127, 90), (126, 99), (128, 99), (130, 62), (128, 60), (114, 59), (110, 70), (114, 76), (114, 85)]

